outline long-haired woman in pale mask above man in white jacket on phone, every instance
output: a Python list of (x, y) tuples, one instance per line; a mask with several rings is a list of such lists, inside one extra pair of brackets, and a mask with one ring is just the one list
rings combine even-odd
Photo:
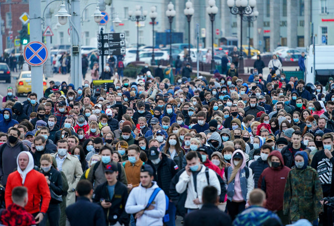
[(179, 169), (182, 169), (182, 161), (184, 156), (184, 150), (181, 148), (180, 142), (177, 139), (176, 134), (171, 133), (168, 136), (164, 153), (170, 156), (170, 159), (174, 160)]

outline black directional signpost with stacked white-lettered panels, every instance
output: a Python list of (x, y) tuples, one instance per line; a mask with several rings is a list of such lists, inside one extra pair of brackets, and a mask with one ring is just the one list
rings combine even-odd
[(125, 33), (103, 33), (97, 35), (98, 55), (101, 57), (102, 78), (104, 72), (104, 56), (105, 55), (124, 55), (125, 54)]

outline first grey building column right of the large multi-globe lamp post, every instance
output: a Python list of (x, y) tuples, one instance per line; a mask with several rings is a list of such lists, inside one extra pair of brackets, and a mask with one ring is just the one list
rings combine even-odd
[[(253, 22), (253, 46), (263, 52), (263, 17), (264, 17), (264, 2), (263, 0), (256, 1), (256, 9), (259, 12), (257, 19)], [(261, 45), (260, 45), (261, 42)]]

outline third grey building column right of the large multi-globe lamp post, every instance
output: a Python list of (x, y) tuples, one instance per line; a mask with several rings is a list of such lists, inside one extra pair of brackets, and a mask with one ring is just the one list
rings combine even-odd
[(296, 0), (287, 0), (287, 45), (297, 47), (297, 26), (299, 8)]

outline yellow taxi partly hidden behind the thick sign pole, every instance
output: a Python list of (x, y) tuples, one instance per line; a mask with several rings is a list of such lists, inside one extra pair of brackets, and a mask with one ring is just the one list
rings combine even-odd
[[(46, 80), (43, 74), (43, 91), (47, 89)], [(31, 71), (21, 71), (15, 84), (16, 96), (31, 92)]]

